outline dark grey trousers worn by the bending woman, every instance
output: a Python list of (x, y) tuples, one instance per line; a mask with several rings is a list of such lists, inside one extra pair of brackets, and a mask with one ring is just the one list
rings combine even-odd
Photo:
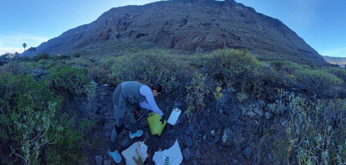
[(113, 128), (112, 135), (110, 137), (109, 151), (114, 152), (119, 147), (119, 135), (125, 127), (125, 113), (126, 109), (130, 110), (131, 114), (131, 133), (137, 132), (137, 120), (136, 114), (132, 113), (137, 110), (138, 103), (126, 103), (124, 96), (121, 94), (121, 85), (118, 85), (113, 92), (113, 106), (115, 113), (116, 125)]

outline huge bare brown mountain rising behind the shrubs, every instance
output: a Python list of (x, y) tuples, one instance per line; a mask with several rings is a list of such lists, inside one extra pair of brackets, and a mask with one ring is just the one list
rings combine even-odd
[(263, 59), (326, 63), (280, 20), (234, 0), (168, 0), (112, 8), (40, 44), (35, 53), (132, 47), (119, 43), (199, 52), (247, 48)]

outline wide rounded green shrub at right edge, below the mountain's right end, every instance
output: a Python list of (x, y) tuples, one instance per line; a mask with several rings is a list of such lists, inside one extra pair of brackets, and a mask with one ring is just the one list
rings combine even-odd
[(313, 93), (315, 98), (317, 94), (343, 84), (337, 76), (319, 70), (296, 70), (293, 75), (297, 84)]

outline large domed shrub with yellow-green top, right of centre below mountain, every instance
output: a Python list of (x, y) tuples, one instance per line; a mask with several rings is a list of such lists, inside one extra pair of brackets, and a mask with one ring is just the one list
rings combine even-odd
[(235, 49), (212, 51), (205, 61), (207, 73), (226, 82), (227, 86), (251, 77), (258, 65), (258, 60), (247, 50)]

